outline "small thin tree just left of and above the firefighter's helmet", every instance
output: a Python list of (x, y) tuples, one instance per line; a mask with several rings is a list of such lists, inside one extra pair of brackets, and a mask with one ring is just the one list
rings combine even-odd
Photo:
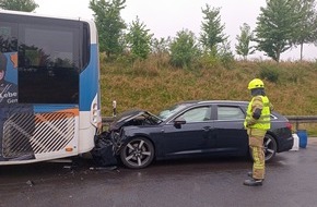
[(240, 35), (236, 36), (237, 45), (235, 45), (236, 53), (242, 56), (244, 60), (247, 60), (249, 54), (255, 53), (254, 47), (250, 47), (250, 41), (254, 38), (254, 33), (250, 26), (246, 23), (240, 26)]

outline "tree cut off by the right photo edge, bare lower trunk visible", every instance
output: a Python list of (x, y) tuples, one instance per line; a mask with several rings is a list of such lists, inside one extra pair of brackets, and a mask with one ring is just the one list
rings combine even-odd
[(298, 0), (295, 9), (298, 15), (294, 31), (294, 44), (301, 47), (301, 61), (303, 60), (304, 44), (313, 44), (316, 38), (317, 19), (315, 0)]

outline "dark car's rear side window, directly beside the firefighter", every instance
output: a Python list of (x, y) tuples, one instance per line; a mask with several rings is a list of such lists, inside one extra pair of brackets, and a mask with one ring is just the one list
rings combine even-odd
[(219, 106), (218, 120), (240, 120), (245, 114), (239, 107)]

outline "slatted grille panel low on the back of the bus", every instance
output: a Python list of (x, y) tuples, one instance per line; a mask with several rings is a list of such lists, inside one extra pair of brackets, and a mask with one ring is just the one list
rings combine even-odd
[(51, 153), (63, 149), (74, 137), (74, 114), (17, 113), (10, 117), (3, 129), (3, 157)]

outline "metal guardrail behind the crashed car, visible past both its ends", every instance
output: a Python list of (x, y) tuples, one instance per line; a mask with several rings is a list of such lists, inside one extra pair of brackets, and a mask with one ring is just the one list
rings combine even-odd
[[(291, 123), (295, 123), (297, 131), (301, 123), (317, 123), (317, 115), (285, 115)], [(115, 117), (103, 117), (103, 125), (106, 126), (113, 122)]]

